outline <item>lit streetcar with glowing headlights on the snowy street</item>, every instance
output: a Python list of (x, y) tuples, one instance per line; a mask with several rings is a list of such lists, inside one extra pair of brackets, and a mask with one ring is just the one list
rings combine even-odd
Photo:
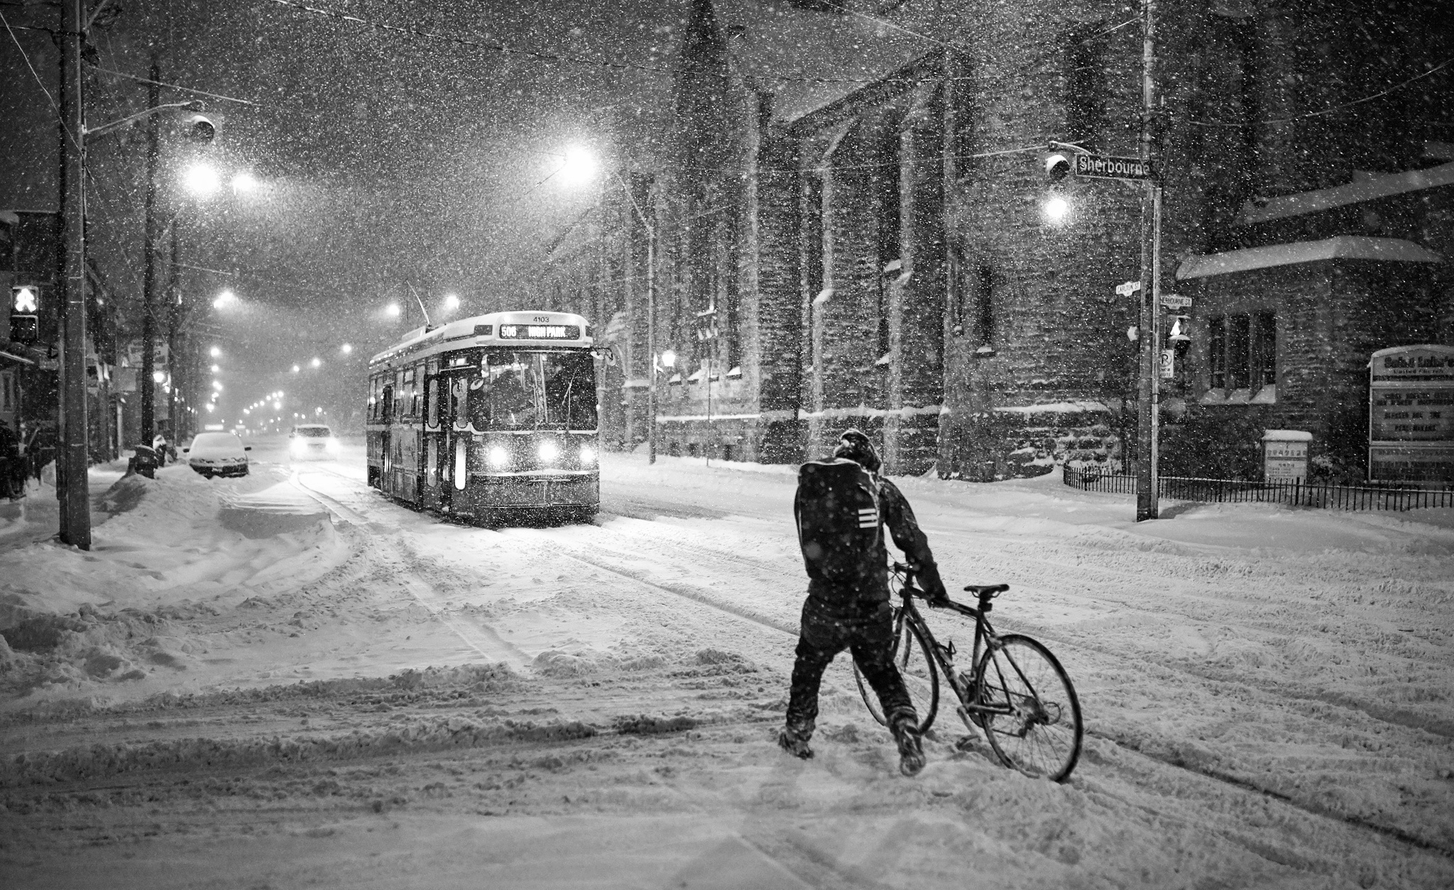
[(570, 313), (491, 313), (416, 329), (371, 358), (368, 484), (471, 522), (589, 522), (601, 505), (592, 333)]

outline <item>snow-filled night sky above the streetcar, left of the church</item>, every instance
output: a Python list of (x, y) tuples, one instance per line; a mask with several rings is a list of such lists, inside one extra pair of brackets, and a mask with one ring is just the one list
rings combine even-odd
[[(365, 25), (298, 6), (126, 0), (95, 29), (100, 68), (145, 77), (156, 52), (161, 81), (256, 103), (160, 93), (199, 97), (218, 122), (204, 151), (182, 138), (183, 112), (161, 116), (158, 179), (163, 212), (179, 212), (182, 262), (237, 273), (183, 275), (199, 330), (241, 372), (224, 410), (342, 342), (361, 362), (404, 329), (384, 318), (387, 302), (409, 301), (417, 324), (406, 281), (430, 305), (446, 292), (470, 313), (529, 305), (550, 237), (601, 189), (551, 176), (561, 153), (587, 147), (618, 166), (651, 150), (686, 12), (683, 0), (308, 4)], [(57, 96), (57, 54), (36, 29), (60, 13), (16, 3), (0, 13), (12, 28), (0, 33), (0, 118), (16, 124), (0, 128), (0, 208), (54, 209), (55, 112), (29, 67)], [(147, 106), (132, 80), (97, 73), (87, 90), (92, 128)], [(205, 201), (170, 191), (196, 154), (260, 188)], [(144, 122), (90, 141), (90, 250), (122, 305), (141, 294), (144, 170)], [(214, 314), (224, 286), (241, 301)]]

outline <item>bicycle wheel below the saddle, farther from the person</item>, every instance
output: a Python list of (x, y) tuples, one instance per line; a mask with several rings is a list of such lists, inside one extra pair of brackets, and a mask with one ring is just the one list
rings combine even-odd
[(1009, 768), (1061, 782), (1080, 759), (1080, 699), (1066, 669), (1019, 634), (980, 657), (976, 701), (984, 736)]

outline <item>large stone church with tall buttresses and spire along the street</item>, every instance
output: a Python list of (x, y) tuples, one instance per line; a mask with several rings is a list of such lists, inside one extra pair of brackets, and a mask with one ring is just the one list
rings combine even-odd
[[(1162, 281), (1192, 297), (1163, 471), (1255, 476), (1261, 430), (1296, 428), (1320, 465), (1357, 473), (1367, 353), (1448, 342), (1454, 109), (1431, 68), (1451, 41), (1425, 7), (1160, 4)], [(1134, 454), (1138, 305), (1115, 288), (1140, 278), (1141, 189), (1053, 185), (1043, 166), (1051, 140), (1137, 153), (1134, 10), (683, 15), (669, 147), (548, 263), (553, 298), (619, 343), (608, 439), (647, 438), (654, 348), (676, 356), (656, 372), (669, 454), (791, 462), (851, 425), (893, 473)]]

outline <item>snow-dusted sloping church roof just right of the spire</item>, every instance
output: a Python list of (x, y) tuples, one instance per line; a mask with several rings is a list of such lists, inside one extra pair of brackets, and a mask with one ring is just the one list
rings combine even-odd
[(774, 95), (774, 118), (784, 122), (884, 79), (944, 38), (925, 22), (896, 26), (901, 16), (814, 12), (787, 0), (714, 0), (714, 9), (734, 73), (760, 79), (759, 89)]

